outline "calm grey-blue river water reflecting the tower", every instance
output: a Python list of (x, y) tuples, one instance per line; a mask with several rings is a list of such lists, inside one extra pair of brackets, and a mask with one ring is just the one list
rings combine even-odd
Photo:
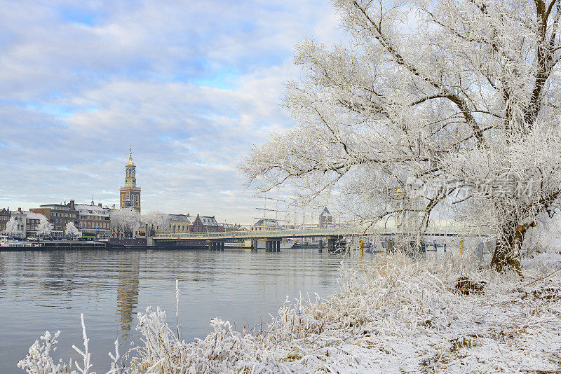
[(266, 324), (286, 296), (336, 292), (341, 261), (317, 249), (0, 252), (0, 373), (21, 373), (18, 360), (46, 330), (62, 332), (57, 360), (80, 359), (80, 313), (94, 369), (105, 373), (115, 339), (121, 353), (140, 342), (137, 312), (158, 305), (175, 329), (175, 279), (187, 341), (204, 338), (213, 317), (238, 331)]

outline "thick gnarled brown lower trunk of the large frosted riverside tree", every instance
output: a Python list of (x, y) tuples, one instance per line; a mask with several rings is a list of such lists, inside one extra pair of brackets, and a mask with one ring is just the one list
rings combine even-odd
[(495, 252), (491, 266), (498, 272), (513, 270), (522, 278), (522, 266), (520, 265), (520, 253), (526, 230), (536, 226), (536, 223), (510, 226), (503, 228), (503, 234), (496, 240)]

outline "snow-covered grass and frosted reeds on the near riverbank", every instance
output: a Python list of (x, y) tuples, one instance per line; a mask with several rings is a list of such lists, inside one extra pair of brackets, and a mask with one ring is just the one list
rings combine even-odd
[[(520, 280), (469, 254), (388, 254), (343, 263), (339, 293), (287, 300), (257, 331), (240, 333), (212, 319), (212, 332), (194, 342), (179, 340), (165, 312), (149, 307), (138, 314), (142, 342), (125, 355), (123, 372), (556, 373), (561, 254), (547, 249), (523, 265)], [(480, 282), (482, 291), (459, 292), (459, 277)], [(53, 339), (46, 336), (48, 348), (36, 342), (30, 354), (48, 356)], [(28, 361), (20, 366), (43, 373)], [(114, 364), (112, 373), (117, 370)]]

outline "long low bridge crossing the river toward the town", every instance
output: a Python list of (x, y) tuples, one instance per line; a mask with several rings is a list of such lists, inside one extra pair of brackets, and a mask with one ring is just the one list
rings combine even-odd
[[(464, 235), (467, 230), (452, 226), (433, 227), (425, 231), (424, 235), (432, 236), (457, 236)], [(327, 238), (327, 249), (334, 249), (337, 243), (346, 236), (356, 235), (396, 235), (414, 234), (396, 228), (364, 227), (355, 226), (349, 228), (308, 228), (308, 229), (271, 229), (255, 231), (226, 231), (210, 233), (167, 233), (154, 235), (154, 242), (173, 242), (173, 241), (199, 241), (206, 242), (211, 250), (224, 250), (224, 243), (232, 240), (253, 240), (265, 241), (266, 251), (279, 251), (280, 240), (289, 238), (304, 237), (325, 237)], [(257, 246), (255, 246), (257, 249)]]

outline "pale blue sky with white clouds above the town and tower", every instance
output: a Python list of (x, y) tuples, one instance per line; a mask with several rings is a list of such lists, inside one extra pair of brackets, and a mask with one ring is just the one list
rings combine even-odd
[(327, 0), (0, 0), (0, 207), (119, 204), (250, 223), (238, 165), (271, 132), (295, 43), (337, 43)]

